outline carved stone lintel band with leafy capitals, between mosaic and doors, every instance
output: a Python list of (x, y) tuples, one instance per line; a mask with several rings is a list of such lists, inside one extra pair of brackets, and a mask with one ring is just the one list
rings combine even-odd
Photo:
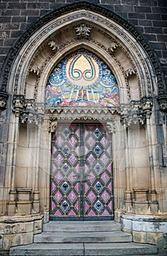
[[(119, 107), (55, 107), (34, 102), (34, 99), (25, 99), (23, 95), (15, 95), (13, 98), (13, 112), (20, 117), (21, 123), (42, 124), (44, 115), (51, 121), (49, 131), (53, 132), (52, 121), (109, 121), (116, 122), (116, 116), (120, 116), (123, 124), (146, 124), (146, 118), (151, 116), (152, 97), (143, 97), (139, 101), (131, 101), (130, 104), (122, 104)], [(115, 125), (109, 131), (114, 132)]]

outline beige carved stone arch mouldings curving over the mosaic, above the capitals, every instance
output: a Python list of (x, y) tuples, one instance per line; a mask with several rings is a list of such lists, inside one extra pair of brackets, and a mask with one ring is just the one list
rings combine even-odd
[(113, 20), (88, 10), (55, 18), (27, 40), (12, 67), (9, 93), (14, 89), (14, 94), (44, 102), (53, 67), (79, 48), (95, 53), (112, 69), (121, 103), (152, 96), (152, 85), (157, 94), (152, 64), (136, 39)]

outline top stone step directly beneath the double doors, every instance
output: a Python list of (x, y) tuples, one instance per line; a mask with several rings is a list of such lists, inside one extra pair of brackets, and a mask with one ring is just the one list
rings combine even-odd
[[(73, 228), (71, 228), (73, 227)], [(75, 230), (74, 230), (75, 229)], [(48, 222), (43, 225), (44, 232), (101, 232), (120, 231), (120, 223), (106, 222)]]

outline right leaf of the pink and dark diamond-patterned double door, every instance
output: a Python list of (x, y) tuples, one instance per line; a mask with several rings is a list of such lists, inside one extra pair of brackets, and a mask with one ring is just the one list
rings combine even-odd
[(103, 125), (84, 124), (84, 217), (111, 217), (112, 154), (110, 136)]

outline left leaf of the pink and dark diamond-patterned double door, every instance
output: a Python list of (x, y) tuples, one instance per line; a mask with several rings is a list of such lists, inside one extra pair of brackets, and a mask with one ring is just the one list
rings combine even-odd
[(59, 125), (53, 135), (51, 214), (80, 214), (79, 125)]

